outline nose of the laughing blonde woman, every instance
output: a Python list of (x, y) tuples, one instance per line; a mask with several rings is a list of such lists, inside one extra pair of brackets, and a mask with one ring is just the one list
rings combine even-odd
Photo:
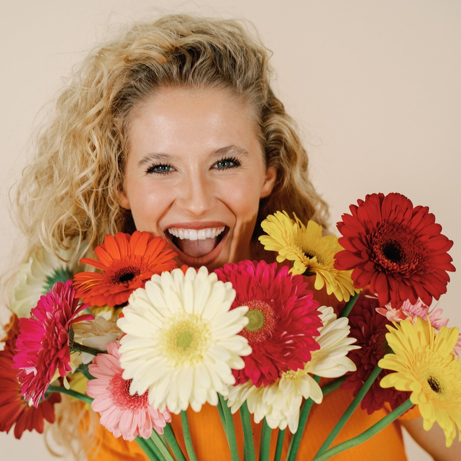
[(176, 205), (195, 218), (211, 211), (215, 204), (213, 183), (204, 175), (188, 175), (180, 186)]

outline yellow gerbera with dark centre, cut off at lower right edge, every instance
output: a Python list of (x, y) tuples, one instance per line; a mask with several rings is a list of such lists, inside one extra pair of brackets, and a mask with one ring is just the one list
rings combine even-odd
[(458, 429), (461, 441), (461, 361), (451, 354), (459, 335), (457, 328), (442, 327), (435, 333), (432, 326), (418, 318), (416, 325), (402, 320), (388, 326), (386, 335), (394, 354), (378, 362), (381, 368), (395, 371), (381, 380), (382, 387), (410, 391), (410, 400), (418, 405), (423, 427), (434, 422), (445, 433), (449, 447)]

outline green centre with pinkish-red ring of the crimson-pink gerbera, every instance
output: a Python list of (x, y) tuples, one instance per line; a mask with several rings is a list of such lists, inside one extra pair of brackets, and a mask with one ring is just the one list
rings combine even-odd
[(276, 325), (274, 311), (265, 301), (252, 299), (242, 303), (242, 306), (248, 306), (248, 324), (240, 332), (240, 335), (248, 339), (248, 343), (260, 343), (272, 334)]

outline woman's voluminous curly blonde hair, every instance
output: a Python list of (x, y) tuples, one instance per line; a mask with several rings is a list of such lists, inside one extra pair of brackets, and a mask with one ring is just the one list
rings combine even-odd
[[(260, 222), (277, 210), (326, 226), (327, 206), (307, 175), (307, 153), (296, 125), (269, 84), (270, 52), (236, 20), (167, 15), (136, 24), (95, 48), (60, 93), (51, 120), (39, 130), (34, 158), (18, 183), (15, 208), (29, 242), (76, 254), (106, 234), (134, 231), (119, 204), (133, 106), (165, 86), (224, 87), (258, 114), (266, 166), (277, 169), (272, 194), (261, 199)], [(75, 244), (75, 243), (74, 243)], [(254, 245), (252, 248), (260, 248)]]

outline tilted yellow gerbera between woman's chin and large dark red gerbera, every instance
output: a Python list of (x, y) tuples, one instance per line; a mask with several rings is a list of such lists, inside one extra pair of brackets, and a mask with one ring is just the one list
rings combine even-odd
[(290, 273), (294, 275), (316, 274), (315, 289), (321, 290), (326, 285), (329, 295), (333, 293), (339, 301), (349, 301), (354, 295), (354, 285), (350, 278), (352, 271), (338, 271), (334, 266), (335, 254), (343, 247), (334, 235), (322, 236), (322, 227), (314, 221), (307, 226), (294, 214), (296, 222), (288, 213), (277, 212), (269, 215), (261, 227), (268, 235), (259, 237), (268, 251), (277, 251), (277, 261), (293, 261)]

